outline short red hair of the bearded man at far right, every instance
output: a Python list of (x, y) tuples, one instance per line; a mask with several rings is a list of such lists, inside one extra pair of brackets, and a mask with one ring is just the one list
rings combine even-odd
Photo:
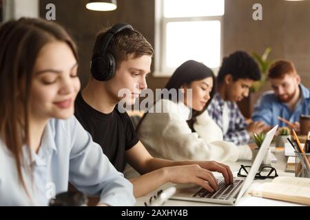
[(297, 75), (293, 62), (278, 60), (269, 67), (268, 78), (284, 78), (287, 74)]

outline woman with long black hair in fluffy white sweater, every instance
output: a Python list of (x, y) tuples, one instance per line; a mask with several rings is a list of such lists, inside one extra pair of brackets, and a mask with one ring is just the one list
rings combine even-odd
[[(143, 115), (137, 127), (141, 142), (154, 157), (251, 159), (249, 146), (223, 141), (223, 132), (205, 111), (216, 91), (215, 83), (213, 72), (202, 63), (186, 61), (176, 69), (161, 99)], [(175, 89), (182, 92), (175, 92), (177, 98), (172, 98)], [(163, 111), (158, 113), (156, 109)]]

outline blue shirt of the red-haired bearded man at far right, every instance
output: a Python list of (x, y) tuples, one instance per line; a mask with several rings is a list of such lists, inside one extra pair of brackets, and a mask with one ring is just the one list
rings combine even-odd
[(300, 85), (301, 98), (293, 111), (289, 109), (287, 104), (280, 102), (273, 91), (267, 91), (258, 100), (254, 112), (252, 114), (252, 120), (264, 121), (271, 126), (287, 126), (284, 122), (278, 120), (278, 116), (289, 120), (290, 122), (299, 122), (300, 115), (310, 114), (310, 90)]

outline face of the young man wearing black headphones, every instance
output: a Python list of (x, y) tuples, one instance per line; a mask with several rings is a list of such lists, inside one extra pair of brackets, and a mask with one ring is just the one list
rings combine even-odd
[[(109, 87), (107, 91), (110, 91), (110, 96), (117, 102), (125, 98), (126, 104), (134, 104), (141, 91), (147, 88), (145, 78), (150, 72), (151, 63), (152, 57), (149, 55), (137, 58), (133, 54), (128, 56), (116, 69), (115, 76), (105, 84)], [(120, 96), (120, 91), (127, 91), (126, 96)]]

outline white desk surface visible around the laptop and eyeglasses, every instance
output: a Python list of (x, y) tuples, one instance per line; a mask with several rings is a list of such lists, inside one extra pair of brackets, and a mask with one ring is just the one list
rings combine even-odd
[[(294, 176), (294, 173), (287, 173), (285, 172), (285, 167), (287, 164), (287, 157), (284, 155), (284, 150), (281, 149), (275, 150), (275, 148), (271, 149), (273, 154), (276, 156), (278, 159), (278, 162), (276, 163), (271, 163), (271, 166), (276, 168), (277, 173), (279, 176)], [(231, 163), (226, 163), (227, 165), (230, 166), (231, 171), (234, 173), (234, 177), (237, 176), (238, 170), (240, 168), (240, 165), (251, 165), (251, 162), (231, 162)], [(217, 177), (220, 176), (219, 173), (214, 173)], [(265, 181), (272, 181), (272, 179), (264, 179), (264, 180), (254, 180), (251, 186), (249, 187), (252, 188), (256, 184), (265, 182)], [(157, 190), (154, 190), (154, 192), (151, 192), (143, 197), (139, 197), (136, 201), (135, 206), (144, 206), (144, 202), (149, 200), (149, 197), (152, 195), (156, 195), (156, 192), (161, 189), (168, 188), (169, 186), (174, 186), (174, 184), (165, 184), (161, 188), (158, 188)], [(249, 191), (249, 189), (247, 191)], [(196, 202), (196, 201), (180, 201), (180, 200), (173, 200), (169, 199), (167, 200), (163, 206), (227, 206), (227, 205), (220, 205), (216, 203), (205, 203), (205, 202)], [(238, 203), (235, 206), (301, 206), (300, 204), (297, 203), (289, 203), (285, 201), (277, 201), (273, 199), (265, 199), (265, 198), (260, 198), (260, 197), (252, 197), (249, 195), (247, 192), (245, 192), (245, 195), (238, 201)]]

